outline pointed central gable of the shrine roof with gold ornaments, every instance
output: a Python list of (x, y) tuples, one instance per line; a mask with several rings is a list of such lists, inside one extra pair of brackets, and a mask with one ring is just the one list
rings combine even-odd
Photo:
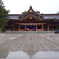
[(29, 10), (27, 12), (25, 12), (24, 14), (19, 16), (20, 19), (24, 19), (26, 17), (36, 17), (37, 19), (43, 18), (42, 15), (38, 14), (37, 12), (35, 12), (32, 9), (32, 6), (30, 6), (30, 8), (29, 8)]

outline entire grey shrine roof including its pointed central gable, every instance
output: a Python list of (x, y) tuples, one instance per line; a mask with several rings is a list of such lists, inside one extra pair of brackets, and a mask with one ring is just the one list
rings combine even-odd
[(59, 14), (40, 14), (35, 12), (32, 9), (32, 6), (30, 6), (29, 10), (27, 12), (25, 12), (24, 14), (9, 14), (9, 19), (11, 20), (20, 20), (20, 19), (26, 19), (29, 17), (33, 17), (36, 19), (43, 19), (43, 20), (47, 20), (47, 19), (56, 19), (55, 21), (59, 20)]

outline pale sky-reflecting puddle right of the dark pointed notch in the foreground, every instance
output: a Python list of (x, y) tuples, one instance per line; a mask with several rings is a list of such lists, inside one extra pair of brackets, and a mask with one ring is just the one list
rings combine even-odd
[(32, 58), (59, 58), (59, 52), (58, 51), (39, 51), (35, 53)]

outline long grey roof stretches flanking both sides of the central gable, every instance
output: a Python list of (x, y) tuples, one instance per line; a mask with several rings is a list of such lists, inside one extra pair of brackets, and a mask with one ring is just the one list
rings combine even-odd
[[(43, 16), (43, 19), (59, 19), (59, 14), (41, 14)], [(19, 19), (19, 16), (21, 16), (21, 14), (9, 14), (9, 19)]]

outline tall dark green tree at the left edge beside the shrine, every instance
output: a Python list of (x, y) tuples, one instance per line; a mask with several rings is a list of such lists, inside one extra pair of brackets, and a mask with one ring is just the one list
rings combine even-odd
[(3, 1), (0, 0), (0, 28), (4, 28), (4, 26), (7, 25), (8, 12), (9, 12), (9, 10), (5, 9)]

